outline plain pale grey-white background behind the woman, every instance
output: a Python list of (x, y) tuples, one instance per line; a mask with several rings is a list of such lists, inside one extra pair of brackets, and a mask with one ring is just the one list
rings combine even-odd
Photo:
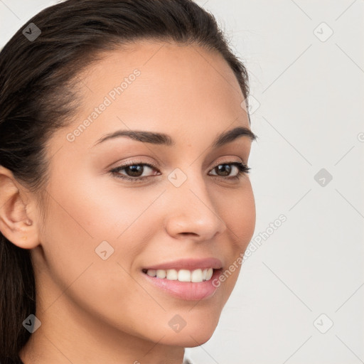
[[(0, 47), (55, 2), (0, 0)], [(213, 337), (186, 352), (197, 364), (364, 363), (364, 1), (196, 2), (250, 73), (262, 244)]]

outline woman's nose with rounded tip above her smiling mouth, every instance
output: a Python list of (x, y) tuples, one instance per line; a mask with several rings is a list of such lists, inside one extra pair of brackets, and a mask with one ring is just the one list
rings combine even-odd
[[(212, 240), (226, 230), (226, 224), (216, 209), (203, 177), (193, 172), (179, 187), (168, 186), (166, 230), (177, 239), (188, 235), (196, 241)], [(223, 198), (215, 194), (215, 198)]]

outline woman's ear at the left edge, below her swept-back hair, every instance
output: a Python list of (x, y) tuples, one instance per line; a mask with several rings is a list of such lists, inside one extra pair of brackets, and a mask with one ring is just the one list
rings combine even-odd
[[(29, 202), (31, 201), (31, 202)], [(6, 239), (23, 249), (39, 245), (35, 201), (14, 178), (0, 166), (0, 231)]]

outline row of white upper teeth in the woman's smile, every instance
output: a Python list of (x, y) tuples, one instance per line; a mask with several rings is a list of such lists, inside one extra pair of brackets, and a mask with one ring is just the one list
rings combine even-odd
[(146, 271), (150, 277), (157, 277), (161, 279), (168, 279), (170, 281), (179, 282), (203, 282), (209, 281), (213, 277), (213, 268), (195, 269), (190, 271), (188, 269), (148, 269)]

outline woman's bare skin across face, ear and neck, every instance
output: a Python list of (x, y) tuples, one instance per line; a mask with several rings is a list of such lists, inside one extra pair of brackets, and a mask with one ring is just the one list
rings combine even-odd
[[(68, 141), (67, 134), (135, 68), (139, 77)], [(247, 164), (252, 141), (240, 137), (210, 148), (218, 134), (250, 128), (244, 97), (222, 56), (197, 45), (139, 41), (109, 52), (79, 79), (77, 117), (48, 141), (47, 205), (37, 205), (36, 196), (0, 169), (0, 229), (31, 249), (42, 323), (21, 359), (181, 364), (184, 348), (213, 335), (241, 266), (200, 301), (173, 298), (146, 282), (141, 269), (181, 257), (218, 257), (225, 270), (245, 251), (255, 230), (250, 179), (245, 174), (228, 181), (237, 168), (228, 177), (214, 169)], [(119, 137), (93, 146), (119, 129), (163, 132), (176, 145)], [(157, 169), (144, 167), (143, 176), (151, 177), (141, 183), (123, 181), (109, 170), (124, 161), (154, 162)], [(178, 188), (167, 178), (175, 168), (187, 177)], [(119, 174), (128, 176), (125, 169)], [(104, 240), (114, 248), (106, 260), (95, 254)], [(168, 326), (176, 314), (186, 321), (178, 333)]]

